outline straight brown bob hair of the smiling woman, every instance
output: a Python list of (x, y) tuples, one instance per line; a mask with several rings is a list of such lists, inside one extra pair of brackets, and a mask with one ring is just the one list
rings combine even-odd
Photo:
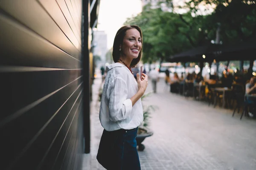
[[(132, 29), (132, 28), (135, 28), (137, 29), (139, 32), (140, 32), (140, 37), (141, 37), (141, 45), (142, 45), (142, 31), (140, 29), (140, 27), (138, 26), (122, 26), (116, 33), (116, 37), (114, 39), (114, 44), (113, 44), (113, 53), (112, 53), (112, 56), (113, 56), (113, 60), (114, 62), (118, 62), (118, 59), (120, 58), (120, 54), (122, 51), (119, 51), (119, 45), (122, 44), (123, 40), (124, 40), (124, 37), (125, 37), (125, 34), (126, 34), (126, 31), (129, 30), (129, 29)], [(142, 47), (142, 46), (141, 46)], [(138, 57), (136, 59), (133, 59), (131, 61), (131, 65), (130, 67), (131, 68), (134, 68), (135, 65), (138, 64), (138, 62), (140, 62), (140, 59), (141, 59), (141, 53), (142, 53), (142, 48), (140, 49), (140, 53), (138, 55)]]

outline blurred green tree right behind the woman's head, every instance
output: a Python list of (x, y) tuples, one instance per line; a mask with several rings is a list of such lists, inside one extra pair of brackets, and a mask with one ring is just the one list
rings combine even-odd
[(125, 22), (142, 28), (143, 62), (159, 59), (161, 62), (170, 55), (202, 45), (211, 33), (210, 30), (200, 31), (204, 25), (204, 16), (192, 17), (191, 13), (164, 12), (160, 8), (145, 9)]

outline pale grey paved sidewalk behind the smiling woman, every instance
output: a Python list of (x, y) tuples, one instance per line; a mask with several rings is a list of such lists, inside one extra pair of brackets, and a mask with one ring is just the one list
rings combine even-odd
[[(96, 154), (103, 128), (96, 101), (101, 79), (95, 79), (91, 111), (91, 153), (84, 154), (83, 170), (104, 170)], [(157, 94), (143, 101), (157, 105), (152, 114), (154, 135), (145, 139), (139, 152), (142, 170), (255, 170), (256, 121), (207, 103), (171, 94), (164, 80)], [(147, 91), (151, 91), (149, 82)]]

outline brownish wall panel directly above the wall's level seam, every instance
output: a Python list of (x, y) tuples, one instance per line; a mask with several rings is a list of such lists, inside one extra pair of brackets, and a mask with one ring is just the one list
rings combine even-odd
[(50, 68), (80, 68), (80, 61), (10, 18), (0, 16), (0, 63)]

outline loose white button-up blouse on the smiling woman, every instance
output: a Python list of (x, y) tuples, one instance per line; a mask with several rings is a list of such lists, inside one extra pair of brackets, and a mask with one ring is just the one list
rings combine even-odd
[(131, 71), (121, 63), (106, 67), (99, 119), (107, 131), (133, 129), (143, 122), (141, 99), (132, 106), (131, 97), (138, 91)]

